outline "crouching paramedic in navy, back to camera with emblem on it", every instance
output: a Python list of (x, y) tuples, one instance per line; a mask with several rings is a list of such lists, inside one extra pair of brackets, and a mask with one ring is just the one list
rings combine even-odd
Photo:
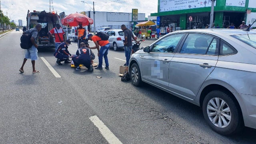
[(83, 64), (86, 68), (88, 68), (89, 72), (93, 72), (93, 67), (91, 63), (92, 51), (86, 47), (86, 45), (81, 42), (81, 48), (76, 51), (76, 54), (72, 55), (72, 60), (76, 68), (74, 70), (81, 70), (79, 64)]

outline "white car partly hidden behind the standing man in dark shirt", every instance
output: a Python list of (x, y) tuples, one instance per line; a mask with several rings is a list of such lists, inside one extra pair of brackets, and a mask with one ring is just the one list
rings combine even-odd
[[(117, 51), (120, 48), (124, 48), (124, 32), (121, 29), (109, 30), (106, 34), (108, 34), (109, 36), (108, 41), (110, 43), (110, 47), (113, 47), (115, 51)], [(133, 32), (132, 34), (137, 39)]]

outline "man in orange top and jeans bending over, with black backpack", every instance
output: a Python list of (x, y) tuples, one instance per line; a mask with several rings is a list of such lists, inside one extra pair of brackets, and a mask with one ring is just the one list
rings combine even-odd
[(99, 65), (95, 69), (102, 69), (102, 61), (103, 57), (106, 64), (106, 69), (109, 69), (108, 64), (108, 50), (110, 48), (110, 44), (108, 41), (109, 36), (104, 32), (98, 32), (95, 36), (92, 34), (88, 34), (88, 40), (92, 40), (95, 44), (94, 47), (88, 46), (90, 49), (97, 49), (98, 50), (98, 57), (99, 57)]

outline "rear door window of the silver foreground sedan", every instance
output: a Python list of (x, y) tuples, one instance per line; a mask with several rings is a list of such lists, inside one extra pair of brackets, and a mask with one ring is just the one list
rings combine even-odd
[(206, 54), (213, 38), (205, 34), (188, 34), (180, 53)]

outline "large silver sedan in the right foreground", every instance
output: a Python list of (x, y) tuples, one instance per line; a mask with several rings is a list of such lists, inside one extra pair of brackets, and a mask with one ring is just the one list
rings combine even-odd
[(256, 128), (256, 31), (182, 30), (134, 53), (134, 86), (146, 82), (202, 108), (219, 134)]

